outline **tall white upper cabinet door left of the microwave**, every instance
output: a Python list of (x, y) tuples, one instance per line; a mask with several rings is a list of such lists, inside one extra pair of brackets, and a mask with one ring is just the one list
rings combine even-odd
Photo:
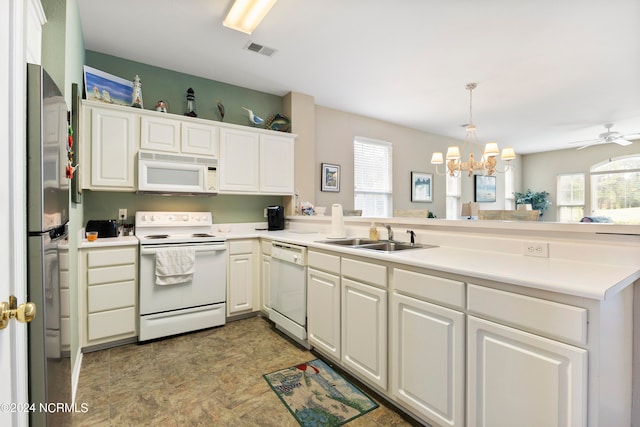
[(134, 190), (136, 115), (91, 109), (91, 187)]

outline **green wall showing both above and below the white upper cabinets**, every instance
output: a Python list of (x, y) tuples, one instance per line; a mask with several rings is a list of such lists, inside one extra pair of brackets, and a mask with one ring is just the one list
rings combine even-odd
[[(86, 65), (115, 76), (131, 79), (140, 76), (144, 109), (155, 109), (160, 99), (169, 103), (169, 112), (181, 114), (186, 105), (186, 92), (193, 88), (199, 118), (220, 121), (215, 100), (225, 106), (225, 123), (249, 126), (247, 107), (260, 117), (282, 112), (282, 97), (207, 80), (140, 62), (130, 61), (91, 50), (86, 51)], [(84, 219), (116, 219), (118, 209), (128, 210), (127, 222), (133, 223), (136, 211), (209, 211), (215, 223), (265, 221), (264, 208), (282, 204), (280, 196), (220, 195), (155, 196), (135, 193), (84, 191)]]

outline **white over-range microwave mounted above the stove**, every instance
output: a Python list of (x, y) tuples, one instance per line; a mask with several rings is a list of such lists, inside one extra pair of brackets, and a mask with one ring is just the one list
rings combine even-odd
[(218, 193), (218, 160), (140, 151), (138, 192), (215, 195)]

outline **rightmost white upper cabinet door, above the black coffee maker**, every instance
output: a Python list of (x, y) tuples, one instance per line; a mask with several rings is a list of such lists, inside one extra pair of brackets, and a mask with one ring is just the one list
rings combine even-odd
[(260, 191), (291, 194), (294, 181), (292, 137), (260, 135)]

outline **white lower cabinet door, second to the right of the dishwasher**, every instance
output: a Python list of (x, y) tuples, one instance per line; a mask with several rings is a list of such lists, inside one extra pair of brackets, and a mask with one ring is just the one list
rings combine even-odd
[(387, 388), (387, 291), (342, 278), (342, 362)]

